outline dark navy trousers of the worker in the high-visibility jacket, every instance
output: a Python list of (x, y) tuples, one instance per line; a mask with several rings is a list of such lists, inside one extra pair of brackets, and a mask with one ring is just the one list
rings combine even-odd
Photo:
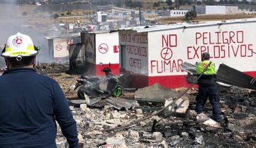
[(221, 110), (220, 110), (220, 97), (218, 95), (218, 87), (215, 86), (199, 86), (199, 92), (196, 97), (196, 112), (203, 112), (203, 106), (207, 99), (209, 98), (210, 103), (212, 104), (212, 114), (214, 120), (217, 122), (221, 121)]

